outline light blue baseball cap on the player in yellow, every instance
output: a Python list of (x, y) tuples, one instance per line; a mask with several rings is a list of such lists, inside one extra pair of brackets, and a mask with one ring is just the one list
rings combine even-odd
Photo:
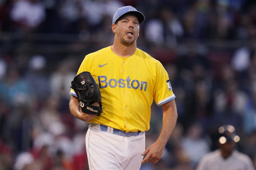
[(141, 12), (137, 11), (134, 7), (123, 6), (121, 8), (118, 8), (117, 12), (115, 12), (115, 15), (113, 16), (113, 24), (124, 14), (136, 15), (139, 20), (139, 24), (145, 20), (145, 16)]

